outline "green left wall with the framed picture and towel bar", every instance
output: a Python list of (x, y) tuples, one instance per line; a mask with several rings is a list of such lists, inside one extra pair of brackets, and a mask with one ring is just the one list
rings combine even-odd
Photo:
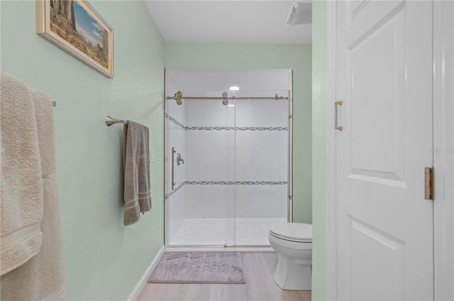
[[(1, 70), (54, 108), (69, 300), (126, 300), (163, 244), (163, 41), (143, 1), (90, 1), (114, 28), (114, 79), (35, 33), (35, 1), (1, 1)], [(150, 127), (153, 210), (123, 226), (123, 127)]]

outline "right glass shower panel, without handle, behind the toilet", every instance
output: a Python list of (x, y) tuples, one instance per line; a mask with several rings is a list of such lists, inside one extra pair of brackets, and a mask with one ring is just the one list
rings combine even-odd
[[(264, 94), (263, 91), (253, 95)], [(287, 97), (288, 91), (265, 93)], [(247, 99), (236, 105), (236, 245), (269, 245), (287, 222), (289, 101)]]

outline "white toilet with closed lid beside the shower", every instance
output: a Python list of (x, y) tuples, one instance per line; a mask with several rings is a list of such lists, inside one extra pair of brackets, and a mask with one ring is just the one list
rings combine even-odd
[(312, 225), (287, 222), (271, 227), (268, 239), (277, 252), (275, 281), (282, 290), (311, 290)]

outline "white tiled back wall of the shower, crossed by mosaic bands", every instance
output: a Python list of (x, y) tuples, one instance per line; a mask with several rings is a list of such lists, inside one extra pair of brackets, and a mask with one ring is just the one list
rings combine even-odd
[[(288, 127), (287, 101), (187, 102), (186, 127)], [(186, 130), (187, 181), (287, 181), (287, 130)], [(187, 185), (188, 218), (286, 217), (287, 185)], [(235, 207), (236, 206), (236, 207)]]

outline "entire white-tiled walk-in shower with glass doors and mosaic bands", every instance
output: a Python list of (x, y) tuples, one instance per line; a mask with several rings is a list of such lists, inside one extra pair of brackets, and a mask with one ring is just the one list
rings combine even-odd
[(165, 78), (166, 246), (268, 246), (292, 215), (292, 71)]

